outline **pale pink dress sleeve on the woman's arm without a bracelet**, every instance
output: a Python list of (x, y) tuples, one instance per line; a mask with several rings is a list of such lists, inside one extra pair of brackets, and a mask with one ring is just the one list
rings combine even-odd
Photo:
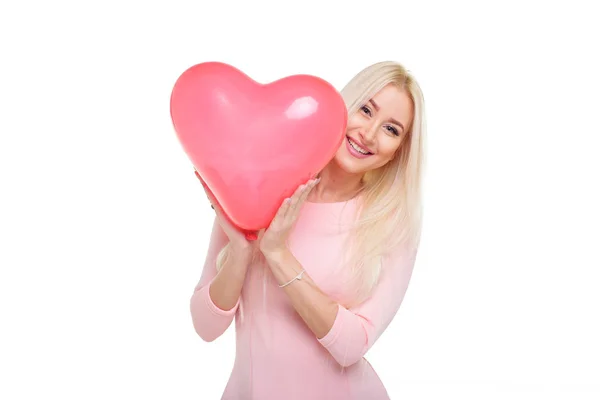
[(238, 298), (231, 310), (222, 310), (213, 303), (209, 294), (210, 284), (217, 275), (217, 255), (227, 242), (228, 238), (215, 218), (202, 275), (190, 299), (194, 329), (207, 342), (217, 339), (227, 330), (240, 304)]

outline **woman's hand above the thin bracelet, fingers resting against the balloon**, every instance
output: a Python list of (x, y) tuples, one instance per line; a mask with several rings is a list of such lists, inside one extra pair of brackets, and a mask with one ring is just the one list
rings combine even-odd
[(310, 191), (321, 179), (311, 179), (304, 185), (300, 185), (292, 197), (283, 201), (277, 214), (271, 221), (269, 227), (262, 233), (260, 240), (260, 251), (268, 257), (287, 249), (287, 239), (298, 218), (302, 205), (308, 198)]

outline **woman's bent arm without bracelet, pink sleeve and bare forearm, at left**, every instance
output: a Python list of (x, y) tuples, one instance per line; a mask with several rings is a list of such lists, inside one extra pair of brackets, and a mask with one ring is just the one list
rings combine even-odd
[(215, 218), (202, 276), (190, 299), (194, 329), (207, 342), (221, 336), (233, 321), (250, 264), (250, 247), (232, 246), (223, 267), (217, 272), (217, 255), (228, 242)]

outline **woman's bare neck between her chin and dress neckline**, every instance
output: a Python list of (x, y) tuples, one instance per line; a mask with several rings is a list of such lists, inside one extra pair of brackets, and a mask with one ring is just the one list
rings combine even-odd
[(311, 191), (313, 203), (335, 203), (354, 198), (362, 189), (362, 174), (350, 174), (332, 160), (319, 174), (321, 181)]

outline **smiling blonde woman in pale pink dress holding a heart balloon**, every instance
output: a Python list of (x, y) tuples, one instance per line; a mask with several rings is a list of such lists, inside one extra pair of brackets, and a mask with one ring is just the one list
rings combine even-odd
[(363, 356), (398, 311), (417, 255), (423, 95), (395, 62), (365, 68), (341, 93), (346, 140), (258, 241), (207, 191), (217, 216), (190, 306), (205, 341), (235, 318), (222, 399), (389, 398)]

